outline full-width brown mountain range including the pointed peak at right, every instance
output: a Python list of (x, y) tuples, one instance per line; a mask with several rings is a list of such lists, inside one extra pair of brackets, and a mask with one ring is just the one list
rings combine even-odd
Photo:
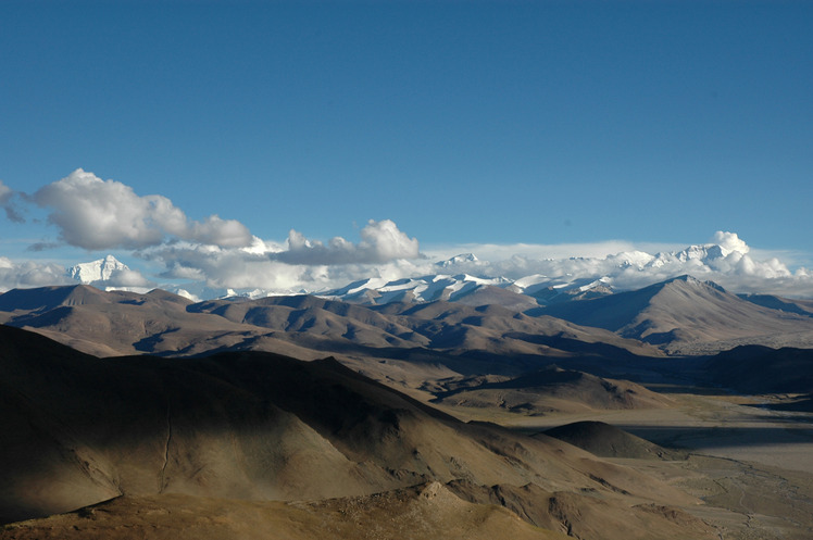
[(738, 297), (690, 276), (593, 299), (528, 304), (521, 312), (488, 303), (493, 287), (479, 285), (462, 297), (467, 302), (450, 297), (382, 305), (313, 296), (193, 302), (160, 289), (142, 294), (82, 285), (14, 289), (0, 294), (0, 322), (102, 356), (252, 349), (387, 357), (397, 350), (434, 355), (445, 365), (460, 356), (523, 364), (813, 346), (809, 304), (773, 297), (775, 309), (765, 297)]

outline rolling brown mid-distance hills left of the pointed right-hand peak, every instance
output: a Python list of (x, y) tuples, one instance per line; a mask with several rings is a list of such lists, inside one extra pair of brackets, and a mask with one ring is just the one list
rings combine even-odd
[[(160, 290), (137, 294), (76, 286), (0, 294), (0, 319), (100, 356), (265, 350), (302, 359), (402, 359), (405, 350), (423, 350), (431, 351), (435, 363), (454, 364), (452, 369), (472, 366), (465, 373), (479, 369), (479, 361), (486, 369), (521, 373), (540, 356), (660, 354), (603, 329), (450, 302), (377, 307), (299, 296), (190, 303)], [(479, 360), (454, 361), (471, 351), (478, 351)]]

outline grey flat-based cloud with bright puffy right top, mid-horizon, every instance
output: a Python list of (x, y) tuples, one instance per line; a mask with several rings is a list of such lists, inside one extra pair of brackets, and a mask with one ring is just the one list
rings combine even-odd
[(391, 219), (370, 219), (361, 230), (361, 238), (359, 243), (352, 243), (337, 236), (325, 244), (291, 229), (288, 249), (272, 253), (271, 258), (288, 264), (332, 265), (375, 264), (421, 256), (417, 239), (410, 238)]

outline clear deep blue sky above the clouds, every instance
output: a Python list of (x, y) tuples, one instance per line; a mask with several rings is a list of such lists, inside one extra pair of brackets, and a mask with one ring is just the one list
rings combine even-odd
[(77, 168), (279, 243), (813, 260), (813, 2), (12, 0), (0, 50), (13, 261), (146, 260), (26, 197)]

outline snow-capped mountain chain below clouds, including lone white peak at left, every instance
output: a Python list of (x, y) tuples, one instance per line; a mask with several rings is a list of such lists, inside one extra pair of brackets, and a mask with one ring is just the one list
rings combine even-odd
[[(314, 294), (361, 304), (445, 300), (473, 305), (496, 303), (520, 310), (527, 309), (529, 303), (534, 306), (551, 305), (604, 297), (686, 274), (713, 279), (726, 287), (729, 275), (753, 275), (758, 272), (764, 275), (767, 271), (776, 276), (790, 275), (778, 261), (756, 262), (750, 259), (748, 246), (736, 235), (721, 234), (715, 241), (678, 251), (655, 254), (625, 251), (603, 258), (514, 256), (490, 262), (473, 253), (462, 253), (435, 263), (427, 261), (404, 265), (401, 275), (390, 267), (387, 277), (382, 277), (379, 268), (374, 265), (359, 265), (349, 272), (342, 268), (336, 276), (326, 274), (318, 279), (309, 279), (308, 285), (300, 281), (288, 288), (237, 289), (205, 281), (160, 287), (196, 300)], [(365, 269), (370, 272), (368, 276), (363, 274)], [(73, 266), (68, 275), (83, 284), (105, 289), (151, 286), (140, 274), (129, 271), (112, 255)], [(353, 276), (359, 278), (342, 286), (342, 280), (337, 279), (340, 275), (350, 279)]]

